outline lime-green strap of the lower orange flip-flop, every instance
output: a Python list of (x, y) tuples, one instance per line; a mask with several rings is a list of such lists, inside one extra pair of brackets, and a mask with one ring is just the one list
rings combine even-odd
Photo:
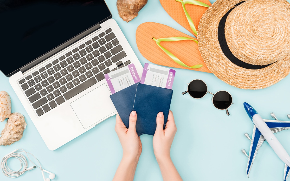
[(194, 65), (194, 66), (187, 66), (185, 65), (182, 61), (180, 61), (180, 59), (178, 59), (177, 57), (175, 57), (171, 52), (169, 52), (168, 50), (166, 50), (163, 46), (160, 45), (161, 41), (181, 41), (181, 40), (193, 40), (195, 43), (198, 44), (197, 40), (195, 39), (191, 39), (191, 38), (187, 38), (187, 37), (169, 37), (169, 38), (159, 38), (159, 39), (155, 39), (154, 37), (152, 38), (156, 44), (171, 58), (173, 59), (177, 64), (187, 67), (187, 68), (200, 68), (202, 67), (202, 64), (198, 64), (198, 65)]

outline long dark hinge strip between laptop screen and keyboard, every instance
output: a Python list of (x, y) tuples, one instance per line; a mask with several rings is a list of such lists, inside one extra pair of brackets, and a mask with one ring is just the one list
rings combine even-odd
[(49, 57), (52, 57), (53, 55), (55, 55), (56, 53), (59, 53), (61, 50), (64, 50), (66, 47), (74, 44), (75, 42), (79, 41), (80, 39), (86, 37), (87, 35), (91, 34), (92, 32), (96, 31), (96, 30), (100, 30), (102, 29), (101, 25), (98, 23), (94, 26), (92, 26), (91, 28), (81, 32), (80, 34), (78, 34), (77, 36), (69, 39), (68, 41), (64, 42), (63, 44), (59, 45), (58, 47), (50, 50), (48, 53), (38, 57), (37, 59), (31, 61), (30, 63), (26, 64), (25, 66), (20, 68), (20, 71), (22, 74), (28, 72), (31, 68), (35, 67), (36, 65), (40, 64), (41, 62), (45, 61), (46, 59), (48, 59)]

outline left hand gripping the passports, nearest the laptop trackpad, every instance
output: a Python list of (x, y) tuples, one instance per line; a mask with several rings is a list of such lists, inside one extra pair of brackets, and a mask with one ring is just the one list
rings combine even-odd
[(129, 128), (122, 122), (119, 114), (116, 116), (115, 131), (123, 148), (123, 158), (139, 160), (142, 152), (142, 143), (136, 132), (136, 111), (132, 111), (129, 117)]

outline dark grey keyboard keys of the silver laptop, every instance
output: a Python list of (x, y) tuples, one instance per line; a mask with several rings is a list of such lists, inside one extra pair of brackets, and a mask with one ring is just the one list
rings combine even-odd
[(101, 81), (104, 74), (130, 64), (120, 61), (126, 56), (109, 28), (18, 83), (41, 116)]

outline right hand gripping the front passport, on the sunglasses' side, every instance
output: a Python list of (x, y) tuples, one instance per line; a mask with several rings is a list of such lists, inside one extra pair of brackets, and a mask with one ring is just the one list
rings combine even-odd
[(170, 148), (177, 131), (172, 111), (169, 111), (168, 121), (166, 122), (164, 130), (164, 115), (162, 112), (158, 113), (156, 124), (156, 131), (153, 136), (153, 150), (156, 160), (158, 161), (162, 158), (171, 159)]

